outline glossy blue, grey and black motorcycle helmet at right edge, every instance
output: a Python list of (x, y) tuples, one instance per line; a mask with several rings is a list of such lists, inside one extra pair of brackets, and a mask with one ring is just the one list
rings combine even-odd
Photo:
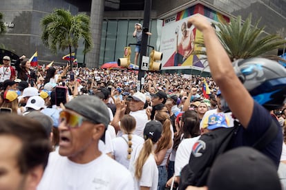
[(285, 67), (269, 59), (251, 58), (233, 61), (233, 68), (249, 94), (260, 105), (269, 111), (283, 105), (286, 99)]

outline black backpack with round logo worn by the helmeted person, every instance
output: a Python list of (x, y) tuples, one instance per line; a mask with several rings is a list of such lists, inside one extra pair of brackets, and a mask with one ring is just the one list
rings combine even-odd
[[(234, 127), (218, 128), (207, 134), (200, 136), (199, 140), (193, 145), (189, 164), (183, 167), (180, 176), (180, 189), (186, 189), (189, 185), (202, 187), (207, 184), (207, 178), (213, 162), (218, 155), (229, 150), (231, 139), (238, 131), (240, 123), (234, 121)], [(252, 147), (263, 149), (273, 140), (278, 133), (275, 121), (271, 120), (271, 125), (265, 134), (258, 139)], [(191, 164), (190, 164), (191, 163)]]

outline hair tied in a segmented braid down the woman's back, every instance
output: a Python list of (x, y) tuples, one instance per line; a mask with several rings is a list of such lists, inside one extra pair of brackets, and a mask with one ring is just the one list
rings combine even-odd
[(131, 115), (124, 115), (122, 119), (120, 120), (120, 129), (124, 132), (124, 134), (128, 134), (128, 155), (127, 159), (129, 160), (131, 158), (131, 153), (132, 153), (132, 132), (134, 131), (136, 127), (136, 120), (133, 116)]

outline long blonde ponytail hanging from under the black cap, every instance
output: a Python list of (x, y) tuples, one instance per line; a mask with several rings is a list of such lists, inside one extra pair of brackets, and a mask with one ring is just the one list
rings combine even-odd
[(140, 151), (140, 154), (135, 162), (135, 178), (137, 178), (137, 180), (140, 180), (142, 176), (143, 165), (146, 162), (149, 155), (152, 153), (152, 149), (153, 149), (153, 142), (151, 138), (148, 138), (147, 140), (145, 140), (143, 148)]

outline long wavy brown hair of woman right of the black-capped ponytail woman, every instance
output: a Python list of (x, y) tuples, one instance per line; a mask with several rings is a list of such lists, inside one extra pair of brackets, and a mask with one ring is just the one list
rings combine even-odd
[(158, 153), (162, 149), (166, 149), (172, 140), (172, 133), (171, 133), (171, 120), (169, 114), (166, 112), (160, 111), (155, 115), (155, 120), (160, 121), (163, 125), (162, 129), (162, 136), (158, 141), (158, 145), (155, 149), (155, 154)]

